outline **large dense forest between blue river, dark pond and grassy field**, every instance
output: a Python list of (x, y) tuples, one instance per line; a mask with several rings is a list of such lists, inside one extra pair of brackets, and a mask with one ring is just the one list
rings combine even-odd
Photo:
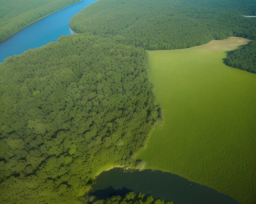
[(0, 64), (0, 203), (75, 203), (157, 120), (143, 48), (84, 35)]

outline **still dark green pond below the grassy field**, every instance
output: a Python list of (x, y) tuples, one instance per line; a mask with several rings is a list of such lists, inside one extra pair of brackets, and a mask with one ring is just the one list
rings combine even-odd
[(130, 191), (149, 193), (174, 204), (238, 204), (236, 200), (178, 175), (162, 171), (128, 171), (115, 168), (103, 171), (92, 185), (91, 195), (106, 198)]

